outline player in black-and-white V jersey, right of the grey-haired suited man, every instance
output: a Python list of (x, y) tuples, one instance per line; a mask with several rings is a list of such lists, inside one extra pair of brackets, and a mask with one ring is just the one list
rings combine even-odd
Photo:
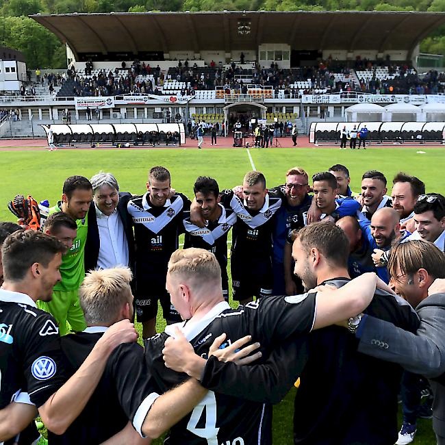
[(168, 324), (179, 320), (166, 292), (166, 273), (170, 255), (179, 246), (183, 232), (183, 211), (190, 209), (186, 196), (170, 196), (170, 172), (161, 166), (151, 168), (147, 192), (128, 202), (127, 211), (133, 220), (136, 246), (135, 302), (142, 337), (156, 333), (157, 302)]

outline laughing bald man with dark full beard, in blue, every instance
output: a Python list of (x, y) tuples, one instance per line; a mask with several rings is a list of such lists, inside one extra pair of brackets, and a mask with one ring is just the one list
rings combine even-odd
[(409, 235), (408, 232), (401, 231), (400, 215), (392, 207), (382, 207), (372, 215), (370, 223), (361, 220), (360, 227), (374, 251), (372, 259), (377, 266), (377, 275), (385, 283), (389, 283), (390, 276), (386, 269), (386, 263), (381, 262), (382, 253), (390, 250), (394, 240), (401, 242)]

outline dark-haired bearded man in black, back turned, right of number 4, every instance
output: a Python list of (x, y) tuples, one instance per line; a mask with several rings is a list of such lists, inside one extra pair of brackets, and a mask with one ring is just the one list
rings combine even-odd
[[(298, 232), (292, 253), (295, 273), (307, 289), (349, 280), (348, 240), (330, 223)], [(376, 292), (364, 311), (409, 331), (418, 318), (402, 298)], [(349, 320), (351, 331), (360, 316)], [(295, 444), (393, 444), (397, 438), (398, 366), (355, 351), (355, 338), (338, 327), (309, 336), (309, 359), (295, 398)], [(304, 407), (304, 409), (301, 409)]]

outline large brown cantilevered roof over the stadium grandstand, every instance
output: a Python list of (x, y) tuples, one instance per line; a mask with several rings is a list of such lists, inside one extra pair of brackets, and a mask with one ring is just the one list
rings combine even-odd
[[(445, 24), (440, 12), (111, 12), (32, 15), (66, 42), (87, 53), (257, 50), (287, 43), (295, 50), (405, 50)], [(250, 31), (240, 34), (240, 25)]]

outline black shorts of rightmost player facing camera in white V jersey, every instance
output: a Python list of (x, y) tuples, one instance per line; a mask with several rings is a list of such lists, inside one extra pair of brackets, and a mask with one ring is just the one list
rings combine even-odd
[(273, 272), (271, 257), (241, 259), (232, 252), (230, 258), (233, 300), (272, 295)]

